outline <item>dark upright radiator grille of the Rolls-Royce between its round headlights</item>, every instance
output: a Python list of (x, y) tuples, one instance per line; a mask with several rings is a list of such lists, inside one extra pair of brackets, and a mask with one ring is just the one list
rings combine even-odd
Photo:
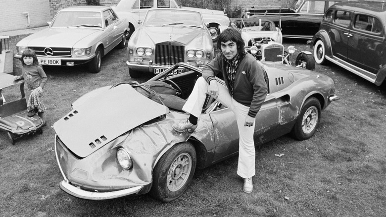
[(179, 45), (155, 45), (155, 65), (171, 66), (184, 62), (185, 47)]

